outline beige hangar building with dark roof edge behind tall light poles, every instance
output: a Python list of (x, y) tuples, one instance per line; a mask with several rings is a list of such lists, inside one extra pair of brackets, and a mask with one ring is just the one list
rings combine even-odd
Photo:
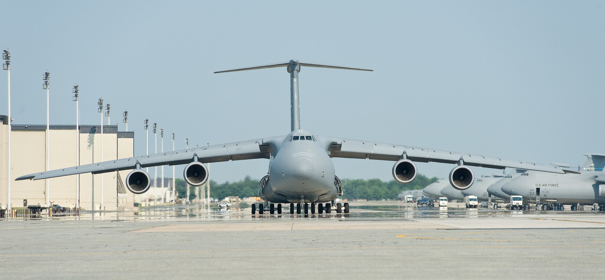
[[(0, 115), (0, 208), (7, 207), (8, 199), (8, 118)], [(46, 126), (13, 124), (11, 133), (11, 204), (13, 208), (27, 205), (50, 204), (74, 208), (76, 206), (77, 175), (46, 180), (21, 180), (16, 177), (45, 171)], [(80, 142), (79, 159), (76, 141)], [(101, 161), (100, 126), (50, 126), (48, 131), (48, 170), (91, 164)], [(103, 126), (103, 161), (134, 156), (134, 132), (118, 132), (117, 126)], [(134, 194), (126, 190), (124, 179), (128, 170), (103, 174), (80, 174), (80, 209), (100, 209), (101, 189), (103, 208), (114, 211), (131, 207)], [(101, 186), (101, 177), (103, 185)]]

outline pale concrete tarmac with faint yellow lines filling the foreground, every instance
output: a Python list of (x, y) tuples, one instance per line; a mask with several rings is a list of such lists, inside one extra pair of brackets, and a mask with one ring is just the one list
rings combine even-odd
[(0, 220), (3, 279), (601, 279), (604, 256), (598, 211), (382, 202), (308, 216), (194, 205)]

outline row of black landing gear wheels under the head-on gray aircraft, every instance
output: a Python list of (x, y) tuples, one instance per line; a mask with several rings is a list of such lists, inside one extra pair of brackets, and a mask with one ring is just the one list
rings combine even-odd
[[(277, 204), (277, 210), (275, 210), (275, 205), (273, 203), (266, 205), (263, 203), (259, 203), (258, 206), (256, 204), (252, 205), (252, 215), (254, 214), (264, 214), (264, 212), (269, 211), (269, 214), (281, 214), (281, 203)], [(336, 211), (336, 213), (348, 214), (349, 206), (348, 203), (336, 203), (333, 205), (332, 203), (290, 203), (290, 214), (330, 214), (332, 211)], [(309, 213), (310, 212), (310, 213)]]

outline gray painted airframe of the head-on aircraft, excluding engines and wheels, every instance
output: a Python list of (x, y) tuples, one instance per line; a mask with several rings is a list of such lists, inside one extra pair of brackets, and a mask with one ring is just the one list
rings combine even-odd
[[(253, 69), (286, 67), (290, 73), (291, 127), (288, 135), (208, 147), (191, 148), (159, 154), (149, 154), (133, 158), (117, 159), (78, 167), (33, 173), (18, 177), (16, 180), (47, 179), (82, 173), (106, 173), (119, 170), (142, 170), (157, 165), (191, 164), (198, 161), (221, 162), (244, 159), (269, 159), (269, 178), (263, 194), (269, 202), (329, 202), (336, 198), (335, 170), (330, 158), (377, 159), (382, 161), (399, 161), (408, 159), (416, 162), (441, 162), (463, 164), (466, 166), (503, 169), (526, 168), (553, 173), (576, 172), (570, 168), (532, 162), (512, 161), (503, 158), (481, 156), (478, 154), (459, 153), (454, 151), (420, 148), (407, 145), (388, 144), (384, 142), (362, 141), (332, 136), (318, 136), (298, 129), (300, 115), (298, 110), (298, 72), (301, 66), (351, 69), (371, 71), (370, 69), (350, 68), (345, 66), (322, 65), (318, 63), (289, 62), (273, 63), (248, 68), (238, 68), (219, 72), (234, 72)], [(305, 136), (305, 140), (294, 140), (295, 136)], [(310, 139), (307, 139), (310, 136)], [(140, 171), (139, 171), (140, 172)], [(417, 173), (417, 170), (415, 170)], [(207, 178), (208, 176), (206, 176)], [(453, 188), (452, 188), (453, 189)]]

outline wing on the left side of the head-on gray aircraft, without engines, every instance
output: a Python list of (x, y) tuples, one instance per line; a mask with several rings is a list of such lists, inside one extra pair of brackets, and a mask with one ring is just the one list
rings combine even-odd
[(198, 161), (203, 163), (240, 161), (243, 159), (268, 159), (270, 157), (269, 153), (271, 152), (270, 143), (275, 139), (283, 140), (283, 138), (284, 136), (277, 136), (272, 138), (253, 139), (206, 147), (189, 148), (186, 150), (166, 151), (164, 153), (147, 154), (145, 156), (135, 156), (125, 159), (114, 159), (112, 161), (97, 162), (94, 164), (80, 165), (77, 167), (28, 174), (18, 177), (15, 180), (39, 180), (73, 174), (99, 174), (119, 170), (129, 170), (136, 168), (137, 162), (140, 164), (141, 168), (154, 167), (158, 165), (189, 164), (189, 162), (193, 161), (194, 155), (197, 155)]

